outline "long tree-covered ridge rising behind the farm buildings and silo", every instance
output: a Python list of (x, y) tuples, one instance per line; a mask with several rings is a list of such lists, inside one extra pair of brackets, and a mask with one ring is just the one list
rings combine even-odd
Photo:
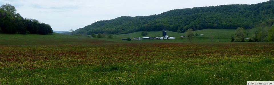
[(170, 10), (151, 16), (121, 16), (94, 22), (74, 33), (124, 34), (162, 29), (185, 32), (188, 29), (250, 29), (263, 22), (273, 25), (273, 0), (251, 5), (220, 5)]

